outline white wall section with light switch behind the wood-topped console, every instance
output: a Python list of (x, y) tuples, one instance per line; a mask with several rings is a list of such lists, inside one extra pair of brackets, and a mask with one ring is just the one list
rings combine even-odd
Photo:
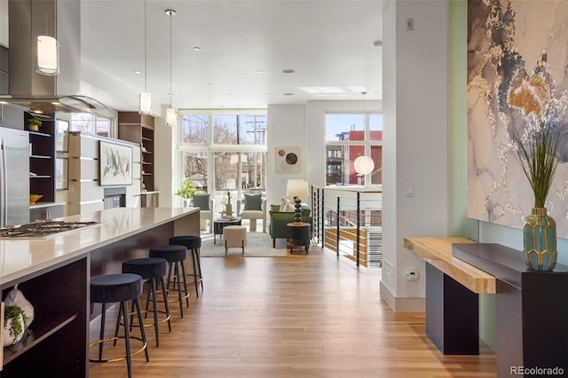
[[(446, 0), (385, 6), (381, 295), (395, 311), (424, 311), (424, 263), (404, 238), (449, 232), (448, 24)], [(414, 197), (405, 195), (408, 184)], [(420, 279), (407, 281), (408, 268)]]

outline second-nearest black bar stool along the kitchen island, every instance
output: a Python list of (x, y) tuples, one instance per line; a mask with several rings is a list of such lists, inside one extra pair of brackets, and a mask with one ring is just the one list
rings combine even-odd
[[(142, 277), (142, 280), (147, 280), (148, 282), (148, 295), (146, 296), (146, 316), (148, 314), (148, 308), (150, 304), (150, 296), (152, 296), (152, 302), (154, 305), (154, 323), (146, 323), (145, 327), (154, 326), (154, 332), (156, 335), (156, 347), (160, 346), (160, 335), (158, 330), (158, 324), (165, 321), (168, 322), (168, 328), (171, 332), (171, 322), (170, 322), (170, 306), (168, 304), (168, 292), (166, 290), (166, 284), (164, 283), (164, 276), (168, 274), (168, 261), (161, 257), (146, 257), (146, 258), (134, 258), (132, 260), (127, 260), (122, 263), (122, 273), (134, 273)], [(163, 302), (165, 303), (165, 311), (158, 310), (158, 299), (157, 299), (157, 287), (158, 284), (162, 286)], [(162, 312), (165, 314), (165, 318), (158, 320), (158, 313)], [(145, 318), (146, 318), (145, 316)], [(131, 326), (131, 323), (130, 323)]]

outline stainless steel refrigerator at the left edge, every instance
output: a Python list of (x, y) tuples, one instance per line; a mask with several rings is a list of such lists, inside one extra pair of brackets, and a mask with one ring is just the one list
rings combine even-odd
[(0, 226), (29, 223), (29, 135), (0, 128)]

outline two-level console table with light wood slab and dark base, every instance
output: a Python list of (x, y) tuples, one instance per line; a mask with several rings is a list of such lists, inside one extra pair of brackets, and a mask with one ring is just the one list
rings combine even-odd
[(463, 238), (404, 243), (426, 261), (426, 332), (444, 354), (478, 345), (477, 294), (495, 293), (497, 375), (568, 372), (568, 266), (534, 272), (521, 251)]

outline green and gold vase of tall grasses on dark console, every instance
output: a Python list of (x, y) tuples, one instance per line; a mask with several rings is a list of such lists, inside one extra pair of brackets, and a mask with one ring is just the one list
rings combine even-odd
[(510, 135), (517, 161), (534, 194), (533, 209), (525, 218), (523, 229), (525, 263), (533, 270), (551, 271), (557, 258), (556, 222), (548, 217), (545, 201), (558, 165), (558, 147), (563, 137), (558, 109), (562, 106), (552, 96), (544, 99), (539, 104), (547, 106), (536, 109), (528, 107), (530, 101), (525, 102), (525, 128), (521, 131), (512, 127)]

